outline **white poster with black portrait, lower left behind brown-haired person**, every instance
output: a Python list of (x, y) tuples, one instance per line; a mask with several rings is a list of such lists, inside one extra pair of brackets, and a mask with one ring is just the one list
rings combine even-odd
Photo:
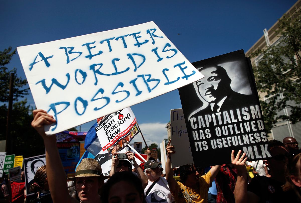
[(46, 165), (46, 155), (33, 156), (23, 159), (24, 173), (25, 173), (25, 187), (27, 195), (33, 194), (29, 191), (30, 185), (34, 183), (33, 177), (36, 171), (42, 166)]

